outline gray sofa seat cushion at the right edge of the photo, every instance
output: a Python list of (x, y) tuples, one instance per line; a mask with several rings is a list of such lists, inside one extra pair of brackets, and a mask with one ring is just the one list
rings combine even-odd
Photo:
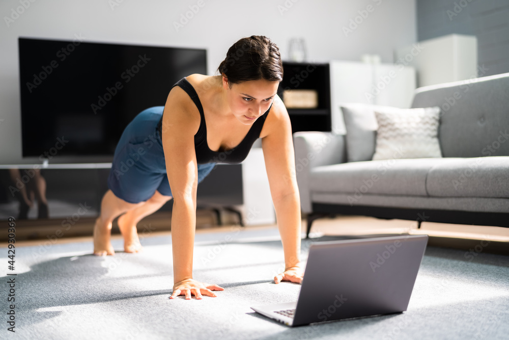
[(437, 163), (430, 169), (426, 189), (439, 197), (509, 198), (509, 156)]

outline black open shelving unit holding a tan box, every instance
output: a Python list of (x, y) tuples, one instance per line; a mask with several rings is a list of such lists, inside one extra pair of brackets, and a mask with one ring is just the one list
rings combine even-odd
[(278, 95), (284, 99), (284, 90), (302, 89), (318, 92), (318, 108), (288, 109), (292, 133), (298, 131), (331, 130), (330, 68), (328, 63), (283, 62), (283, 80)]

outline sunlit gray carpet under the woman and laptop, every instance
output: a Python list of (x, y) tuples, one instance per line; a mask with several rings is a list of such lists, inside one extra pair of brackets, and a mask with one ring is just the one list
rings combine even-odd
[[(273, 240), (267, 240), (266, 236)], [(263, 241), (265, 238), (265, 241)], [(169, 300), (170, 237), (145, 237), (145, 251), (91, 255), (92, 243), (16, 249), (16, 333), (7, 331), (1, 274), (1, 338), (10, 339), (507, 339), (509, 257), (428, 247), (408, 310), (290, 328), (252, 305), (290, 302), (300, 285), (272, 283), (284, 266), (277, 230), (197, 234), (194, 277), (225, 288), (216, 298)], [(338, 238), (322, 237), (314, 241)], [(303, 258), (309, 241), (303, 240)], [(7, 248), (0, 248), (7, 267)], [(7, 337), (5, 337), (7, 335)]]

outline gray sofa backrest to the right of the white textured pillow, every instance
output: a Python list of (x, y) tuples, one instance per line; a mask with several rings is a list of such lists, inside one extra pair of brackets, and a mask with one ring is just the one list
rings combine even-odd
[(509, 73), (417, 89), (412, 108), (432, 106), (443, 157), (509, 156)]

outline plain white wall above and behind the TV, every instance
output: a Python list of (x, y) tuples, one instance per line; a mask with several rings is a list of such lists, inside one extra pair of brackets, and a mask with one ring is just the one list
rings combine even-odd
[[(415, 0), (201, 1), (204, 6), (177, 32), (174, 21), (198, 0), (2, 0), (0, 164), (39, 163), (21, 159), (19, 36), (72, 40), (81, 34), (84, 41), (207, 48), (209, 74), (235, 41), (253, 34), (270, 37), (284, 59), (290, 39), (303, 37), (310, 61), (360, 60), (369, 53), (393, 62), (395, 48), (416, 41)], [(115, 2), (120, 4), (112, 8)], [(22, 11), (21, 3), (30, 6)], [(362, 18), (358, 11), (369, 5)], [(12, 14), (17, 8), (18, 17)], [(343, 27), (356, 17), (360, 24), (345, 35)]]

